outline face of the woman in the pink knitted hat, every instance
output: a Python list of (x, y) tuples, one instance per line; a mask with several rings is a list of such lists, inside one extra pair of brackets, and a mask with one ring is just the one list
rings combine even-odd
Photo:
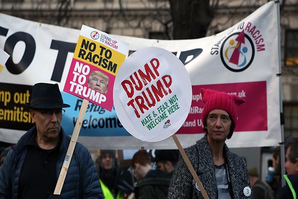
[(207, 117), (208, 139), (225, 141), (229, 134), (231, 123), (232, 121), (225, 110), (211, 110)]

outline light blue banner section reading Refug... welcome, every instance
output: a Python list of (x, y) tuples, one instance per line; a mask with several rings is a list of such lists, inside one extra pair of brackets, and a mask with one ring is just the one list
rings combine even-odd
[[(62, 93), (65, 103), (71, 105), (65, 108), (61, 126), (72, 135), (79, 114), (82, 99), (68, 93)], [(80, 136), (105, 137), (105, 136), (131, 136), (119, 121), (114, 107), (108, 111), (99, 105), (89, 102), (79, 132)]]

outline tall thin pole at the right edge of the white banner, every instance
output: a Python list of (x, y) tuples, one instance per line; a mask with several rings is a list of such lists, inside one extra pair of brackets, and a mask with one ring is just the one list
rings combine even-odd
[[(277, 6), (277, 36), (278, 36), (278, 65), (279, 65), (279, 74), (277, 75), (279, 78), (279, 89), (280, 89), (280, 113), (281, 113), (281, 121), (284, 121), (284, 111), (283, 111), (283, 92), (282, 92), (282, 63), (281, 63), (281, 31), (280, 31), (280, 1), (274, 1)], [(282, 186), (286, 185), (286, 180), (283, 178), (284, 174), (286, 174), (285, 170), (285, 134), (284, 134), (284, 122), (281, 122), (281, 132), (282, 132), (282, 141), (281, 141), (281, 173), (282, 173)]]

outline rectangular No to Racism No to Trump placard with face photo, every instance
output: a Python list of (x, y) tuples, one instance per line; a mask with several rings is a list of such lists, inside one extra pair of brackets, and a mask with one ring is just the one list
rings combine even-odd
[(82, 25), (63, 91), (111, 111), (115, 76), (127, 55), (127, 43)]

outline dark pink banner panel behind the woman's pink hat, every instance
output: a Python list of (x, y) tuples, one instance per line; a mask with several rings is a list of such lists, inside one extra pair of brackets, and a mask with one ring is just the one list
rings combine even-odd
[(238, 107), (238, 122), (235, 132), (268, 130), (266, 82), (246, 82), (217, 85), (192, 86), (193, 96), (189, 114), (177, 131), (178, 134), (205, 133), (203, 131), (202, 111), (204, 103), (200, 89), (211, 89), (238, 95), (246, 100)]

